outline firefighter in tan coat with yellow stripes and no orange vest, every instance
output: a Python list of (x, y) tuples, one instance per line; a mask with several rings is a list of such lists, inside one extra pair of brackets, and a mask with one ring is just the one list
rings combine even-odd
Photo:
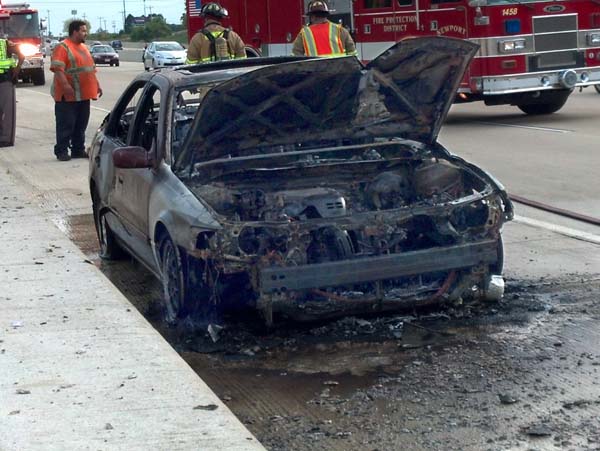
[(204, 28), (190, 41), (187, 64), (207, 63), (233, 58), (246, 58), (242, 38), (230, 28), (221, 25), (229, 13), (218, 3), (207, 3), (200, 10), (204, 17)]

